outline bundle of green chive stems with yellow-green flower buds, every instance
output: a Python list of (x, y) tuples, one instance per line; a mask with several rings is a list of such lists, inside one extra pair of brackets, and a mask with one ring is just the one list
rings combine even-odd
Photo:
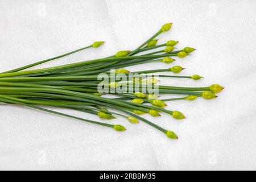
[[(99, 59), (43, 69), (24, 70), (88, 48), (97, 48), (104, 44), (104, 42), (94, 42), (90, 46), (60, 56), (2, 72), (0, 73), (0, 102), (31, 107), (52, 114), (79, 119), (83, 122), (111, 127), (117, 131), (124, 131), (126, 128), (119, 124), (91, 121), (45, 109), (42, 106), (68, 108), (86, 114), (98, 115), (101, 119), (114, 119), (119, 116), (126, 118), (131, 123), (142, 121), (162, 131), (167, 137), (177, 139), (174, 131), (163, 129), (163, 127), (139, 115), (149, 113), (153, 117), (158, 117), (160, 113), (166, 113), (175, 119), (184, 119), (185, 115), (180, 111), (165, 109), (166, 102), (195, 100), (197, 97), (216, 98), (216, 93), (221, 92), (223, 87), (217, 84), (193, 88), (158, 84), (159, 77), (192, 80), (203, 78), (199, 75), (155, 75), (159, 72), (177, 74), (184, 69), (179, 65), (167, 69), (136, 72), (129, 72), (125, 69), (131, 65), (146, 65), (152, 62), (170, 64), (175, 61), (174, 57), (183, 58), (195, 51), (191, 47), (174, 51), (174, 46), (178, 43), (175, 40), (157, 45), (158, 39), (155, 38), (170, 30), (171, 26), (172, 23), (164, 24), (151, 38), (133, 51), (118, 51), (112, 56)], [(162, 49), (159, 50), (159, 48)], [(154, 49), (156, 50), (154, 51)], [(104, 81), (102, 81), (103, 78)], [(180, 94), (182, 96), (161, 100), (159, 94)]]

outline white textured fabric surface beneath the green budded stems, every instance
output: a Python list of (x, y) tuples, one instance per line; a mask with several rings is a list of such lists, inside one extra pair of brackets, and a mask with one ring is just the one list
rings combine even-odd
[[(96, 40), (106, 44), (42, 67), (134, 49), (162, 24), (172, 30), (159, 43), (195, 47), (172, 65), (200, 81), (161, 79), (162, 84), (225, 89), (216, 100), (173, 101), (168, 109), (188, 119), (146, 116), (175, 131), (168, 139), (145, 123), (109, 121), (124, 133), (20, 106), (0, 105), (0, 169), (256, 169), (256, 2), (251, 1), (0, 1), (0, 71), (47, 59)], [(131, 71), (166, 68), (152, 63)], [(37, 68), (42, 68), (37, 67)], [(71, 113), (71, 111), (67, 111)], [(75, 114), (75, 113), (74, 113)], [(76, 113), (90, 119), (92, 115)]]

